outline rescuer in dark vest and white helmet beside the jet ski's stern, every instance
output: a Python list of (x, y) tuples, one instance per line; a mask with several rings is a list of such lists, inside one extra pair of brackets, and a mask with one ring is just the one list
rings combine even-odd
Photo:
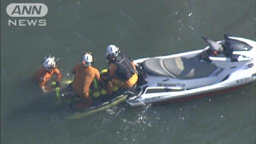
[(119, 51), (115, 45), (108, 45), (106, 47), (108, 73), (104, 79), (108, 80), (107, 92), (112, 94), (112, 85), (115, 84), (119, 87), (128, 89), (131, 88), (138, 80), (136, 67), (132, 60), (125, 54)]

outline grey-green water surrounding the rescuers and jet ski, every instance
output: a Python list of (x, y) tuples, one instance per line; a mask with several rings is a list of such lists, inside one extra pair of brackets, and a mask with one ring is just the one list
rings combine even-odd
[[(1, 143), (256, 143), (255, 82), (189, 101), (129, 107), (122, 103), (82, 119), (32, 80), (48, 54), (64, 78), (84, 51), (106, 67), (113, 43), (132, 58), (201, 49), (201, 35), (256, 40), (255, 0), (35, 0), (46, 26), (8, 26), (1, 0)], [(22, 2), (22, 1), (18, 1)], [(24, 0), (24, 2), (31, 2)]]

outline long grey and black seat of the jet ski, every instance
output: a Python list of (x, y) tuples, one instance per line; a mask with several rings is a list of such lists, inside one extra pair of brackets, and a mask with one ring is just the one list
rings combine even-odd
[(142, 68), (151, 75), (191, 79), (207, 77), (217, 69), (217, 66), (203, 60), (200, 61), (196, 55), (148, 58), (142, 62)]

